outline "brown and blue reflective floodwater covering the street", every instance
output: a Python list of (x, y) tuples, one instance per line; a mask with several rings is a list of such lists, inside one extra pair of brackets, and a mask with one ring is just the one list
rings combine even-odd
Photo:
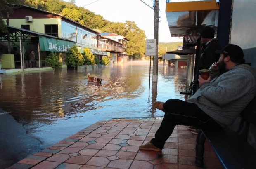
[[(157, 89), (152, 89), (152, 68), (149, 87), (149, 61), (4, 74), (0, 108), (46, 148), (100, 120), (163, 116), (154, 101), (186, 100), (179, 92), (186, 69), (159, 65), (158, 70)], [(102, 78), (102, 84), (88, 82), (87, 73)]]

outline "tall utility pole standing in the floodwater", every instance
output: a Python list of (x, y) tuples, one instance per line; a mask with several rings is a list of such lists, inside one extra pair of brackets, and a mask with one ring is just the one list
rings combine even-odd
[(157, 72), (158, 72), (158, 22), (159, 22), (159, 0), (155, 0), (155, 21), (154, 21), (154, 39), (156, 39), (156, 55), (153, 59), (153, 79), (152, 82), (157, 83)]

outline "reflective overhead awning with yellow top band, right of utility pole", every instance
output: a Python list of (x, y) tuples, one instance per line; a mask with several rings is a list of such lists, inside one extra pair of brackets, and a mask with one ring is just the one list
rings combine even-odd
[(199, 36), (204, 26), (217, 30), (218, 9), (219, 2), (216, 0), (166, 3), (171, 36)]

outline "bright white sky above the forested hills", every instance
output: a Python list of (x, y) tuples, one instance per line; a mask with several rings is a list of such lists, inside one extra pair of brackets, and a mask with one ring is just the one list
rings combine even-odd
[[(64, 0), (69, 2), (70, 0)], [(153, 7), (154, 0), (142, 0)], [(171, 2), (180, 1), (172, 0)], [(186, 1), (186, 0), (184, 0)], [(154, 39), (154, 10), (140, 0), (76, 0), (78, 7), (103, 16), (111, 22), (135, 21), (145, 31), (147, 39)], [(166, 0), (159, 0), (159, 42), (178, 42), (183, 39), (171, 37), (165, 14)]]

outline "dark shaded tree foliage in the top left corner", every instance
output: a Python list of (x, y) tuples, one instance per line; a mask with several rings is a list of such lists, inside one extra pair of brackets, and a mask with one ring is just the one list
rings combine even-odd
[[(25, 0), (0, 0), (0, 32), (7, 32), (7, 27), (5, 21), (2, 20), (2, 17), (9, 12), (13, 13), (12, 5), (10, 4), (24, 4)], [(8, 4), (9, 3), (9, 4)]]

